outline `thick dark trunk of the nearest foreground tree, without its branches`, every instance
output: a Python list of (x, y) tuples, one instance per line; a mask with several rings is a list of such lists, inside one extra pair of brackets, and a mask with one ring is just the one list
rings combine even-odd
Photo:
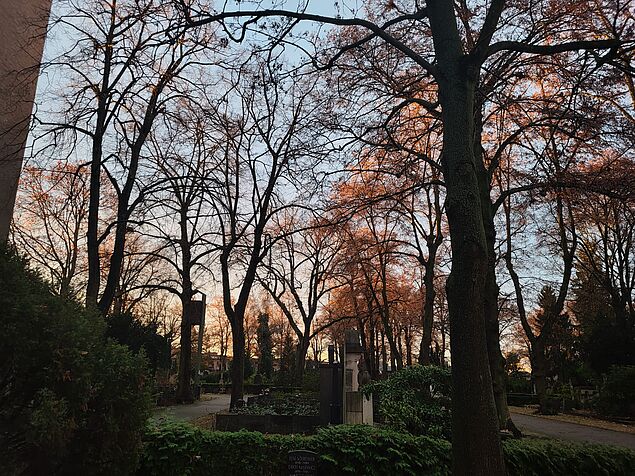
[(442, 166), (452, 270), (446, 289), (452, 339), (452, 460), (455, 475), (504, 475), (485, 333), (487, 242), (473, 137), (477, 72), (463, 53), (454, 4), (427, 3), (442, 107)]

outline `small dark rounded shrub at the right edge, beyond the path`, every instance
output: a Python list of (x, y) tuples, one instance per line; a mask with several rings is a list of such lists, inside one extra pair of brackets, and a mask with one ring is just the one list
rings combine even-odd
[(611, 367), (600, 389), (596, 409), (606, 416), (635, 417), (635, 365)]

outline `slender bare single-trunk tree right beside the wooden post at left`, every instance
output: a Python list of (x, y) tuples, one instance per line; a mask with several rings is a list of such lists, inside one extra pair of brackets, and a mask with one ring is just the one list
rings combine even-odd
[(217, 158), (204, 110), (185, 101), (178, 106), (162, 118), (160, 130), (152, 137), (154, 185), (142, 207), (141, 232), (153, 244), (143, 254), (164, 263), (167, 272), (139, 287), (166, 290), (181, 302), (177, 400), (187, 402), (193, 399), (190, 303), (199, 291), (196, 283), (211, 271), (215, 252), (211, 239), (216, 221), (206, 196), (213, 188)]

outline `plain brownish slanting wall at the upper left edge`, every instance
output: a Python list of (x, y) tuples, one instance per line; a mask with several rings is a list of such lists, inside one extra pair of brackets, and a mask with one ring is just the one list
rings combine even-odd
[(51, 0), (0, 0), (0, 242), (15, 205)]

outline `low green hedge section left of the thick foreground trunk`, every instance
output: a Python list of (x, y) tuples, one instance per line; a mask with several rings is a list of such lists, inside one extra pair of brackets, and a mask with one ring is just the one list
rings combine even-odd
[(286, 475), (287, 453), (320, 455), (320, 475), (448, 474), (442, 440), (363, 425), (324, 428), (313, 436), (206, 431), (185, 423), (149, 425), (139, 475)]

